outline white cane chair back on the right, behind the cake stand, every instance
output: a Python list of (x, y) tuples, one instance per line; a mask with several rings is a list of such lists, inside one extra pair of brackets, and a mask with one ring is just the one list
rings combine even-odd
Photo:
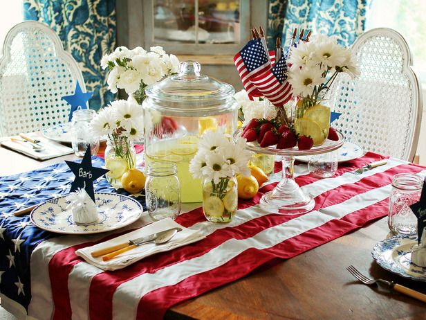
[(352, 48), (361, 75), (335, 81), (330, 103), (342, 116), (333, 127), (366, 151), (412, 161), (423, 103), (407, 42), (395, 30), (376, 28)]

